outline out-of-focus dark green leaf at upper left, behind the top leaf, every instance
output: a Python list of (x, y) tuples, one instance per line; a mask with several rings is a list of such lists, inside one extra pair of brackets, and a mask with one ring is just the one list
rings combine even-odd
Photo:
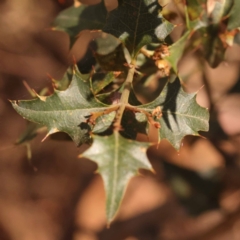
[(81, 31), (102, 29), (106, 16), (107, 9), (104, 1), (90, 6), (73, 5), (60, 12), (53, 22), (53, 30), (66, 32), (70, 38), (70, 47), (72, 47)]

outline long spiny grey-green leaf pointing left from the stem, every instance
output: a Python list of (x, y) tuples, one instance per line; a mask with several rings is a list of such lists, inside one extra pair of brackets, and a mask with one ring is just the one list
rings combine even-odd
[[(34, 100), (13, 101), (14, 109), (25, 119), (47, 126), (48, 135), (67, 133), (77, 145), (89, 142), (91, 127), (87, 119), (92, 113), (108, 109), (91, 93), (89, 82), (84, 81), (75, 66), (72, 80), (65, 91), (54, 90), (51, 96), (39, 96)], [(98, 118), (94, 130), (106, 130), (112, 123), (115, 112)]]

